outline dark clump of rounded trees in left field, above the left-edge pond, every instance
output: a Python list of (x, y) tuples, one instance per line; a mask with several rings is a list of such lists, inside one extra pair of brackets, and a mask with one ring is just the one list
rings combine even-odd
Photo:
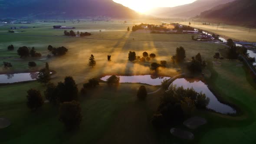
[(41, 53), (36, 52), (34, 47), (32, 47), (32, 49), (30, 49), (29, 47), (22, 46), (17, 50), (17, 52), (21, 58), (28, 57), (28, 56), (31, 56), (31, 57), (41, 57), (42, 56)]

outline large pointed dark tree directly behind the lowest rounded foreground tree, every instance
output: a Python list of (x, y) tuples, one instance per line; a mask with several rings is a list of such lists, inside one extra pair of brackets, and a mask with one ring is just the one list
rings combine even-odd
[(57, 85), (58, 98), (60, 102), (72, 101), (77, 99), (78, 88), (74, 79), (67, 76), (64, 82), (59, 82)]

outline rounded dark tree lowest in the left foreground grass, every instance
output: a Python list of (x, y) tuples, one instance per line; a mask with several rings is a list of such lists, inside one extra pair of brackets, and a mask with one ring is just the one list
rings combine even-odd
[(63, 122), (67, 130), (79, 128), (82, 121), (81, 107), (79, 102), (64, 102), (59, 108), (59, 121)]

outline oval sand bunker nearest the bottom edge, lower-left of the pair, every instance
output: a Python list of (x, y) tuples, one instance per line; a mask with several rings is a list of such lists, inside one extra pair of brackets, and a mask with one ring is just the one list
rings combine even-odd
[(187, 140), (193, 140), (194, 139), (194, 134), (192, 134), (189, 131), (181, 130), (180, 128), (172, 128), (170, 130), (170, 132), (175, 137), (179, 137), (179, 138), (187, 139)]

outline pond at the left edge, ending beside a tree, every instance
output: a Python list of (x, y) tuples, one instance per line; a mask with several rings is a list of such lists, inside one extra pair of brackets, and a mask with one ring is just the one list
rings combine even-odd
[(36, 80), (38, 72), (0, 75), (0, 84)]

